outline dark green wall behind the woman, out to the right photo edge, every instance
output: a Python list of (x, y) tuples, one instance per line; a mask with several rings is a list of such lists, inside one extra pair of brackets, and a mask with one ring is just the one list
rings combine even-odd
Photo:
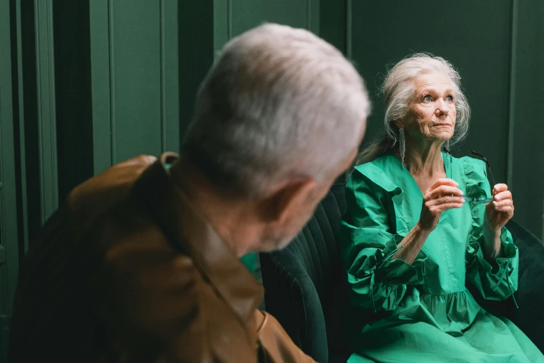
[[(459, 70), (472, 107), (454, 155), (484, 154), (513, 191), (516, 220), (544, 237), (544, 151), (538, 93), (544, 81), (544, 2), (539, 0), (348, 1), (347, 49), (365, 78), (374, 111), (364, 143), (379, 134), (387, 65), (416, 51)], [(437, 16), (437, 14), (443, 16)]]

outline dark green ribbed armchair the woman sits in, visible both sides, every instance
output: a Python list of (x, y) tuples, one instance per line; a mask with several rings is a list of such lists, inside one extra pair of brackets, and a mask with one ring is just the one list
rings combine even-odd
[[(295, 344), (321, 363), (346, 362), (350, 354), (341, 334), (347, 275), (336, 243), (345, 207), (344, 186), (335, 184), (287, 248), (260, 255), (267, 311)], [(544, 245), (514, 221), (506, 227), (520, 250), (515, 295), (520, 308), (511, 299), (479, 302), (511, 318), (544, 351)]]

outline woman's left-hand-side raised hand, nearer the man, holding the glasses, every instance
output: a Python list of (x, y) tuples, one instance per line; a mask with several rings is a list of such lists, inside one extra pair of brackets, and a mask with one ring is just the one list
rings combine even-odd
[(443, 211), (461, 208), (465, 200), (461, 197), (463, 191), (457, 188), (459, 184), (452, 179), (438, 179), (423, 195), (423, 206), (419, 225), (422, 229), (432, 231), (438, 225), (438, 219)]

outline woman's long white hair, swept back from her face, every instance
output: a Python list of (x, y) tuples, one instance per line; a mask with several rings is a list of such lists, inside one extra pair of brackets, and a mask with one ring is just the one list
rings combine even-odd
[(454, 136), (450, 139), (450, 147), (466, 137), (470, 120), (470, 106), (461, 90), (459, 72), (455, 70), (452, 63), (442, 57), (416, 53), (404, 58), (388, 71), (386, 80), (381, 87), (386, 103), (385, 135), (371, 143), (359, 154), (356, 165), (368, 163), (395, 147), (399, 135), (395, 120), (402, 120), (406, 117), (409, 102), (415, 92), (415, 81), (423, 74), (434, 72), (447, 76), (454, 92), (456, 122)]

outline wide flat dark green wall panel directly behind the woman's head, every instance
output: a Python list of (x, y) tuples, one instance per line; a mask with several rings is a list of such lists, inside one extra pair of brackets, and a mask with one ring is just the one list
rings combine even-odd
[[(379, 86), (386, 66), (413, 52), (431, 52), (457, 67), (472, 106), (470, 133), (454, 154), (466, 155), (474, 149), (486, 155), (497, 180), (506, 181), (510, 10), (509, 1), (496, 0), (462, 0), (455, 6), (440, 1), (434, 6), (413, 1), (354, 1), (352, 57), (374, 104), (369, 119), (371, 133), (365, 141), (383, 124), (384, 102)], [(463, 19), (462, 25), (459, 19)], [(486, 26), (481, 26), (482, 19), (486, 19)]]

